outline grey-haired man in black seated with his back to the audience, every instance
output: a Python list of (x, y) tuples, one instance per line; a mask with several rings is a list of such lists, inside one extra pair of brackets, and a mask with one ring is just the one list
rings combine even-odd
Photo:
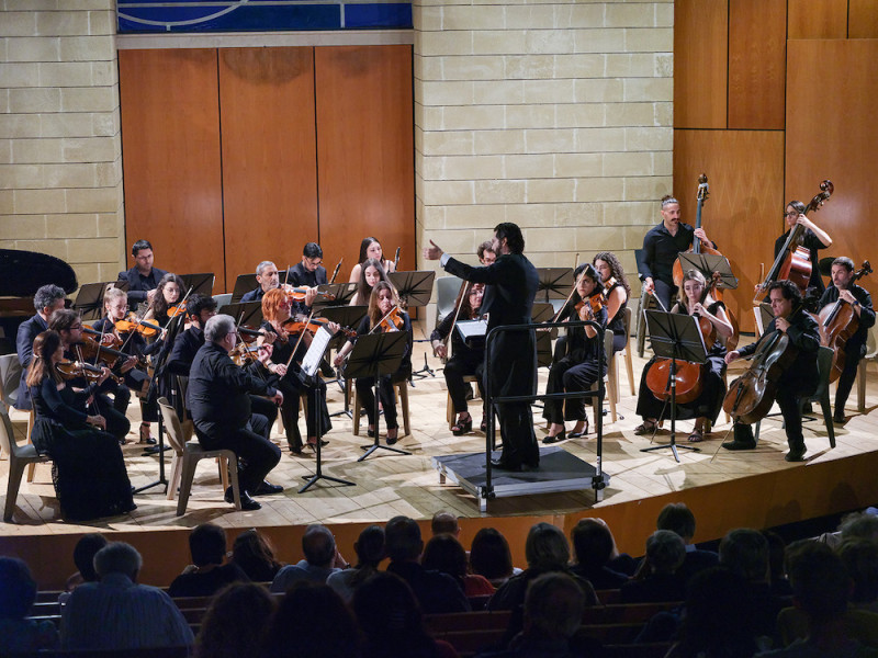
[[(281, 451), (269, 441), (268, 419), (252, 412), (249, 394), (268, 396), (277, 405), (283, 404), (283, 394), (232, 361), (228, 353), (236, 343), (234, 318), (215, 315), (207, 320), (204, 344), (189, 374), (187, 400), (199, 443), (205, 450), (232, 450), (243, 462), (238, 470), (241, 508), (258, 510), (262, 506), (252, 496), (283, 490), (264, 480), (280, 462)], [(233, 501), (232, 487), (225, 500)]]

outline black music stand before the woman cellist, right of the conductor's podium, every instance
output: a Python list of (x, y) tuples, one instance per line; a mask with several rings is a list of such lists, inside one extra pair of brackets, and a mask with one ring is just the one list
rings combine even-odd
[(677, 360), (689, 361), (691, 363), (705, 363), (707, 361), (707, 349), (705, 339), (698, 327), (695, 316), (680, 313), (664, 313), (663, 310), (646, 310), (646, 328), (650, 333), (650, 342), (656, 356), (671, 359), (671, 443), (643, 447), (640, 452), (652, 452), (669, 447), (674, 453), (674, 458), (679, 463), (677, 447), (684, 447), (694, 452), (700, 449), (693, 445), (677, 445)]

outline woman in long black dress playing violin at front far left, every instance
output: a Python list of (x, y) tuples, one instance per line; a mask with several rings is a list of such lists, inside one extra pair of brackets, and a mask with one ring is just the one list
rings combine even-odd
[(34, 404), (34, 447), (54, 462), (53, 483), (61, 514), (77, 521), (122, 514), (134, 510), (131, 481), (115, 436), (106, 433), (102, 416), (82, 411), (109, 371), (89, 389), (76, 393), (59, 376), (64, 345), (55, 331), (34, 340), (34, 358), (26, 384)]

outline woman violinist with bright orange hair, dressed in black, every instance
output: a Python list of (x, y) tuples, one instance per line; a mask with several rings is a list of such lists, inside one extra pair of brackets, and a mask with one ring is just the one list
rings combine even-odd
[[(274, 288), (268, 291), (262, 297), (262, 329), (267, 333), (275, 334), (277, 339), (273, 342), (273, 350), (270, 353), (270, 359), (264, 361), (264, 367), (270, 373), (269, 383), (275, 386), (278, 390), (283, 394), (283, 405), (281, 406), (281, 418), (283, 419), (283, 427), (286, 430), (286, 443), (293, 454), (302, 454), (302, 435), (299, 432), (299, 399), (302, 390), (305, 390), (307, 397), (307, 446), (314, 452), (317, 449), (317, 392), (313, 386), (306, 385), (299, 376), (301, 371), (300, 363), (305, 356), (307, 347), (311, 344), (311, 336), (307, 334), (303, 340), (299, 341), (299, 333), (290, 331), (291, 325), (294, 319), (291, 316), (291, 308), (293, 302), (290, 295), (282, 288)], [(327, 325), (327, 330), (330, 333), (338, 331), (338, 325)], [(269, 336), (260, 337), (257, 339), (258, 343), (266, 344), (270, 341)], [(293, 355), (293, 350), (296, 350)], [(320, 436), (326, 434), (333, 429), (333, 422), (329, 418), (329, 410), (326, 407), (326, 384), (323, 379), (319, 381), (320, 386)], [(327, 441), (323, 441), (320, 445), (326, 445)]]

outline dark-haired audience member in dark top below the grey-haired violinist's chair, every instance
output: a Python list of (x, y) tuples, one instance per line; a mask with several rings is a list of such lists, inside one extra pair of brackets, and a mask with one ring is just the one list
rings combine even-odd
[(250, 580), (235, 564), (224, 565), (226, 531), (213, 523), (202, 523), (189, 533), (189, 552), (194, 568), (188, 568), (171, 582), (168, 594), (211, 597), (233, 582)]

